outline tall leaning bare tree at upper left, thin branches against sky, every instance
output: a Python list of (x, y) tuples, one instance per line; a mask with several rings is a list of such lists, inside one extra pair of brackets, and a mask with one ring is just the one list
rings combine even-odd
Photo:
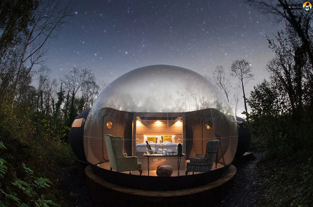
[[(16, 91), (18, 79), (22, 65), (29, 60), (31, 65), (28, 69), (30, 72), (33, 65), (43, 63), (43, 57), (47, 54), (46, 42), (50, 38), (55, 38), (56, 31), (61, 26), (68, 23), (68, 17), (74, 16), (71, 0), (63, 7), (64, 2), (59, 0), (40, 0), (37, 9), (33, 13), (33, 24), (30, 26), (30, 32), (25, 37), (23, 51), (18, 66), (16, 79), (13, 85), (13, 92)], [(28, 55), (26, 55), (29, 53)], [(11, 108), (13, 108), (14, 99)]]

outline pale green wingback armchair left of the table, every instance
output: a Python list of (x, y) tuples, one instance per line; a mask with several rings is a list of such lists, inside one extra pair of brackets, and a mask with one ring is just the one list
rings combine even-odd
[(117, 172), (129, 171), (129, 174), (131, 174), (131, 171), (138, 170), (140, 175), (142, 174), (142, 164), (138, 162), (138, 157), (128, 157), (126, 153), (123, 153), (123, 137), (106, 134), (104, 138), (110, 161), (110, 170), (114, 169)]

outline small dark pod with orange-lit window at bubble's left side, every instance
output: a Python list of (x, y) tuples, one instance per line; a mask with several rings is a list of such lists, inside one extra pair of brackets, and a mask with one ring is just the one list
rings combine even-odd
[(78, 115), (69, 130), (69, 144), (77, 158), (82, 161), (87, 161), (84, 150), (84, 128), (89, 111), (90, 108)]

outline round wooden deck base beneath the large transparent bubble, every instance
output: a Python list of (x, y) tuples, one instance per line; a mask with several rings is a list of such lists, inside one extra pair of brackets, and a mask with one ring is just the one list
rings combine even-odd
[(90, 166), (85, 169), (90, 196), (99, 206), (143, 207), (212, 206), (231, 190), (236, 171), (236, 167), (231, 165), (225, 176), (206, 185), (184, 190), (154, 191), (115, 185), (96, 176)]

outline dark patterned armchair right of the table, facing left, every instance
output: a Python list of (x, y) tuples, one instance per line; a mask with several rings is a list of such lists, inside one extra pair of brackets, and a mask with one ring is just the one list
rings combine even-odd
[(193, 175), (194, 172), (211, 171), (214, 163), (214, 158), (218, 150), (218, 144), (219, 140), (210, 140), (207, 143), (207, 150), (205, 155), (197, 154), (197, 158), (190, 157), (189, 160), (187, 160), (186, 176), (188, 172), (192, 172)]

